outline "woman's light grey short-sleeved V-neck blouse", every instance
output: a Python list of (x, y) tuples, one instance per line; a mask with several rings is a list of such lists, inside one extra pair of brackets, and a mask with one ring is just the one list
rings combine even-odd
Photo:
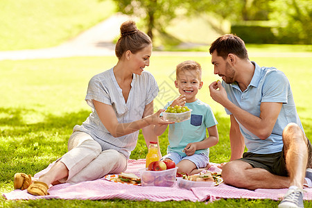
[[(143, 71), (141, 75), (133, 74), (128, 101), (125, 103), (122, 89), (114, 76), (113, 68), (97, 74), (89, 81), (85, 101), (92, 107), (92, 113), (76, 130), (86, 132), (102, 146), (102, 150), (114, 149), (129, 158), (137, 145), (139, 131), (122, 137), (113, 137), (105, 128), (94, 109), (93, 100), (112, 105), (119, 123), (130, 123), (142, 118), (144, 108), (152, 102), (159, 92), (153, 75)], [(109, 117), (105, 119), (110, 119)]]

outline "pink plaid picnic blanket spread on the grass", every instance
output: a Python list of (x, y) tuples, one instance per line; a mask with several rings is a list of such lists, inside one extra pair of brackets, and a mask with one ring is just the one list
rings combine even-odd
[[(46, 169), (36, 173), (34, 177), (39, 177), (42, 173), (51, 168), (50, 164)], [(213, 164), (209, 171), (220, 172), (218, 164)], [(129, 159), (128, 173), (138, 173), (140, 168), (145, 168), (145, 159)], [(125, 200), (150, 200), (162, 202), (167, 200), (190, 200), (213, 202), (218, 198), (249, 198), (249, 199), (272, 199), (280, 200), (287, 189), (257, 189), (250, 191), (247, 189), (238, 189), (226, 184), (220, 184), (218, 187), (196, 187), (191, 190), (173, 187), (140, 187), (129, 184), (119, 184), (110, 182), (101, 178), (94, 181), (80, 182), (78, 184), (59, 184), (49, 189), (48, 196), (33, 196), (26, 190), (15, 190), (10, 193), (3, 193), (8, 200), (35, 200), (35, 199), (67, 199), (67, 200), (105, 200), (105, 199), (125, 199)], [(304, 200), (312, 200), (312, 189), (304, 189)]]

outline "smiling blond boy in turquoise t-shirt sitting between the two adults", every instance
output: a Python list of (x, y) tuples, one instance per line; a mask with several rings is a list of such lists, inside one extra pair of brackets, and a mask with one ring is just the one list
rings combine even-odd
[[(203, 103), (196, 94), (202, 88), (202, 69), (198, 62), (188, 60), (177, 65), (175, 87), (181, 96), (169, 105), (186, 105), (191, 112), (191, 119), (169, 125), (169, 146), (167, 155), (162, 159), (172, 159), (180, 173), (193, 175), (209, 168), (209, 147), (218, 144), (218, 129), (214, 113), (208, 104)], [(155, 134), (162, 135), (167, 125), (156, 125)], [(206, 128), (209, 137), (206, 135)]]

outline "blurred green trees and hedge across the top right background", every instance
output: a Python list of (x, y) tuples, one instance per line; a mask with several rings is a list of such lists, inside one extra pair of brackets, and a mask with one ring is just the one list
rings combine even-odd
[[(237, 33), (248, 43), (311, 44), (311, 0), (113, 0), (117, 10), (144, 21), (151, 38), (160, 36), (164, 44), (180, 44), (166, 31), (173, 19), (200, 17), (218, 34)], [(246, 25), (245, 21), (267, 21)], [(232, 24), (233, 30), (225, 25)], [(275, 26), (271, 26), (275, 24)], [(198, 27), (200, 28), (200, 26)], [(191, 30), (198, 28), (190, 28)], [(244, 38), (243, 38), (244, 39)]]

